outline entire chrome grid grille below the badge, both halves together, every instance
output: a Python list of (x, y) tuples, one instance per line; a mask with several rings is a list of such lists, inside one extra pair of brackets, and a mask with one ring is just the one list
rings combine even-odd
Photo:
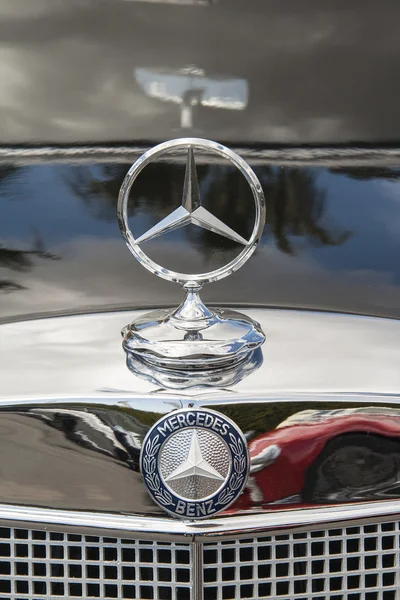
[(395, 598), (399, 522), (157, 542), (0, 528), (2, 598)]

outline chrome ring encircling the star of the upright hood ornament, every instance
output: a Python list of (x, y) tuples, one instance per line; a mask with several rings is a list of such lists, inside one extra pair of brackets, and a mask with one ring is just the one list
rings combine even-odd
[[(233, 163), (235, 167), (242, 173), (242, 175), (246, 178), (250, 189), (253, 194), (254, 204), (255, 204), (255, 222), (253, 227), (253, 232), (250, 236), (250, 239), (247, 242), (245, 248), (240, 252), (240, 254), (230, 261), (227, 265), (215, 269), (213, 271), (209, 271), (206, 273), (199, 274), (189, 274), (189, 273), (179, 273), (176, 271), (172, 271), (162, 267), (151, 258), (149, 258), (143, 250), (141, 250), (138, 241), (135, 239), (132, 231), (130, 230), (128, 223), (128, 202), (129, 196), (132, 189), (132, 186), (138, 177), (139, 173), (151, 162), (153, 162), (156, 158), (162, 156), (163, 154), (167, 154), (168, 152), (172, 152), (176, 149), (200, 149), (205, 150), (213, 154), (217, 154), (227, 159), (229, 162)], [(125, 239), (126, 245), (128, 246), (130, 252), (136, 257), (136, 259), (151, 273), (157, 275), (158, 277), (162, 277), (168, 281), (172, 281), (174, 283), (178, 283), (182, 286), (186, 286), (187, 284), (195, 284), (195, 286), (202, 287), (207, 283), (212, 283), (214, 281), (219, 281), (224, 277), (228, 277), (235, 271), (237, 271), (240, 267), (242, 267), (245, 262), (251, 257), (251, 255), (256, 250), (258, 243), (260, 241), (264, 225), (265, 225), (265, 199), (264, 193), (261, 187), (261, 184), (251, 169), (251, 167), (235, 152), (226, 148), (222, 144), (218, 144), (217, 142), (213, 142), (211, 140), (206, 140), (202, 138), (178, 138), (175, 140), (170, 140), (168, 142), (163, 142), (151, 148), (147, 152), (145, 152), (138, 160), (131, 166), (128, 173), (125, 176), (125, 179), (122, 183), (119, 196), (118, 196), (118, 223), (121, 229), (122, 236)]]

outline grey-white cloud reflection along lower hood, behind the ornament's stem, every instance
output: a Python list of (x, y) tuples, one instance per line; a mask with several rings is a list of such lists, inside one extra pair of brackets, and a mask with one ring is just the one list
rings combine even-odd
[[(47, 311), (76, 311), (105, 306), (168, 306), (182, 300), (179, 286), (146, 271), (118, 239), (81, 238), (52, 250), (62, 261), (45, 261), (16, 283), (27, 288), (0, 297), (2, 316)], [(174, 240), (160, 244), (163, 262), (182, 258)], [(209, 268), (204, 256), (185, 245), (192, 272)], [(400, 288), (392, 275), (368, 269), (325, 269), (306, 253), (291, 257), (260, 248), (232, 277), (208, 285), (209, 303), (299, 306), (400, 316)]]

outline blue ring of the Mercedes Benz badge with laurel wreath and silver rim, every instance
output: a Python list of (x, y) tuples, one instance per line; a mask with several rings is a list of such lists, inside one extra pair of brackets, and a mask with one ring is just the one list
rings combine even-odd
[[(188, 500), (179, 496), (178, 493), (166, 485), (160, 472), (159, 463), (165, 442), (178, 431), (184, 429), (206, 429), (205, 425), (201, 425), (198, 422), (198, 415), (201, 414), (205, 416), (209, 415), (213, 418), (213, 423), (210, 427), (217, 425), (217, 420), (222, 425), (228, 427), (225, 434), (221, 434), (215, 429), (210, 429), (210, 431), (219, 434), (221, 439), (227, 444), (231, 455), (231, 465), (226, 480), (216, 492), (201, 499)], [(181, 415), (183, 415), (183, 420), (182, 418), (179, 419)], [(188, 420), (185, 422), (185, 418), (192, 415), (196, 424), (190, 423)], [(166, 434), (165, 439), (159, 442), (160, 436), (156, 432), (160, 431), (160, 428), (165, 430), (165, 424), (174, 417), (176, 418), (176, 423), (179, 423), (178, 429)], [(154, 451), (155, 446), (158, 446), (156, 451)], [(150, 428), (143, 440), (139, 465), (146, 489), (158, 506), (178, 519), (197, 521), (214, 517), (229, 508), (237, 500), (247, 484), (250, 471), (250, 458), (246, 438), (234, 421), (212, 409), (182, 408), (164, 415)], [(167, 491), (167, 494), (165, 494), (165, 491)], [(172, 505), (175, 507), (175, 510), (171, 508)], [(215, 508), (216, 506), (220, 508), (217, 509)]]

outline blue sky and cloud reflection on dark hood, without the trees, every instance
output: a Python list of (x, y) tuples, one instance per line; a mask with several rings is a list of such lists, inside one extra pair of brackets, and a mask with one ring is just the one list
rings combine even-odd
[[(90, 168), (102, 176), (100, 167)], [(29, 250), (40, 236), (46, 250), (61, 258), (57, 262), (34, 258), (28, 273), (0, 263), (0, 279), (27, 288), (0, 293), (0, 314), (118, 303), (143, 305), (146, 298), (149, 304), (175, 302), (180, 290), (145, 272), (126, 250), (113, 217), (116, 198), (93, 196), (86, 202), (71, 186), (74, 169), (70, 165), (33, 165), (0, 180), (1, 243), (9, 249)], [(362, 306), (366, 312), (400, 316), (396, 288), (400, 281), (400, 181), (356, 180), (326, 169), (315, 171), (317, 184), (326, 190), (320, 224), (334, 233), (349, 231), (351, 237), (339, 246), (318, 247), (306, 237), (293, 238), (298, 251), (288, 256), (276, 249), (268, 227), (264, 251), (258, 250), (234, 277), (207, 286), (205, 298), (349, 311)], [(207, 195), (210, 181), (204, 179), (201, 187)], [(108, 210), (107, 219), (100, 218), (103, 208)], [(151, 213), (141, 213), (135, 228), (144, 231), (156, 220)], [(195, 271), (214, 268), (210, 260), (216, 254), (218, 260), (226, 259), (224, 249), (211, 247), (210, 259), (210, 254), (201, 251), (199, 239), (194, 245), (192, 242), (178, 230), (158, 238), (154, 247), (150, 248), (150, 242), (149, 251), (159, 262), (168, 257), (174, 266), (184, 255), (185, 265), (194, 261)], [(191, 243), (192, 250), (186, 251), (186, 244)], [(166, 295), (157, 294), (158, 288), (165, 289)]]

